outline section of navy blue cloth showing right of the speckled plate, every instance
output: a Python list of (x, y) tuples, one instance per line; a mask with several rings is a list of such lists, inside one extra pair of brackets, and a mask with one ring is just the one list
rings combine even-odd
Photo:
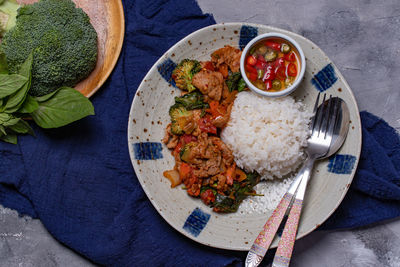
[(362, 149), (349, 192), (321, 229), (359, 227), (400, 216), (400, 138), (384, 120), (361, 112)]

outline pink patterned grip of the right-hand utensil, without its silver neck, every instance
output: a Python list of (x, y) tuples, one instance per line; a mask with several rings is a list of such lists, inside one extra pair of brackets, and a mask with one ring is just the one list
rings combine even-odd
[(296, 240), (297, 228), (299, 225), (303, 200), (296, 198), (290, 210), (289, 217), (285, 224), (281, 240), (279, 240), (278, 249), (276, 250), (273, 267), (287, 267), (292, 257), (294, 242)]

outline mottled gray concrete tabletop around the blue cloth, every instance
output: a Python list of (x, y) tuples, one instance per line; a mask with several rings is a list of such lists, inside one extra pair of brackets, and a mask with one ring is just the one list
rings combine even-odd
[[(400, 130), (400, 1), (198, 0), (217, 22), (272, 25), (320, 46), (353, 89), (360, 110)], [(40, 221), (0, 207), (0, 266), (93, 266), (60, 245)], [(352, 231), (314, 232), (291, 266), (400, 266), (400, 220)]]

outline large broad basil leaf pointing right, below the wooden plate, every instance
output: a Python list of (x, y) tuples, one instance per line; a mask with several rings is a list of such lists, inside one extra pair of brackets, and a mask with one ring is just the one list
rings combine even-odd
[(58, 128), (86, 116), (94, 115), (92, 103), (73, 88), (61, 87), (56, 94), (31, 113), (42, 128)]

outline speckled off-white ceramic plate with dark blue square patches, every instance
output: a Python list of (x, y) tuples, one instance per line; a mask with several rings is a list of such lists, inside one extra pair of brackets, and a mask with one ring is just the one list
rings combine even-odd
[[(168, 109), (180, 91), (171, 82), (171, 72), (184, 58), (208, 60), (217, 48), (231, 45), (243, 49), (249, 40), (267, 32), (289, 35), (304, 50), (307, 69), (302, 84), (293, 94), (296, 99), (304, 101), (312, 111), (318, 92), (326, 92), (344, 99), (350, 110), (350, 130), (343, 147), (333, 157), (315, 165), (297, 238), (316, 229), (333, 213), (356, 171), (361, 151), (357, 103), (338, 69), (314, 43), (285, 30), (243, 23), (212, 25), (190, 34), (169, 49), (140, 84), (129, 115), (128, 145), (137, 177), (154, 208), (177, 231), (208, 246), (249, 250), (272, 210), (252, 215), (217, 214), (180, 187), (170, 188), (162, 173), (173, 168), (174, 158), (160, 140), (170, 120)], [(276, 246), (277, 240), (272, 244)]]

